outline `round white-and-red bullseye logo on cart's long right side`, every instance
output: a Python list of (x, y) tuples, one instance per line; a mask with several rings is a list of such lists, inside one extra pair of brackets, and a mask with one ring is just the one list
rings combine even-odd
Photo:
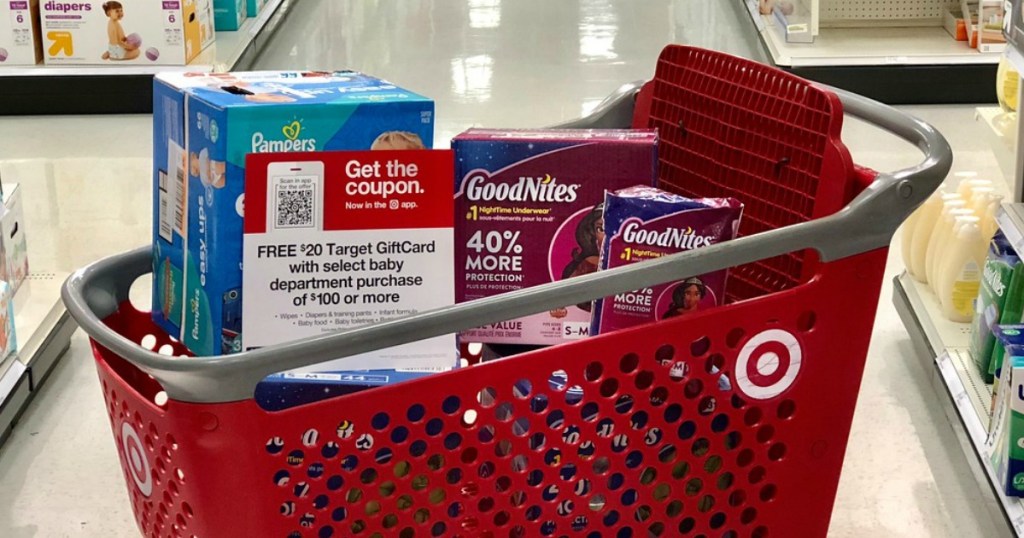
[(769, 329), (758, 333), (736, 358), (736, 384), (753, 399), (775, 398), (797, 380), (803, 355), (800, 342), (788, 331)]

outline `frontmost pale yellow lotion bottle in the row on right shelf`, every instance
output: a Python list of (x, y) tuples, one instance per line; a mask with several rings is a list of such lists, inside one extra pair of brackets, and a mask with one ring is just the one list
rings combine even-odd
[(968, 323), (981, 287), (986, 244), (981, 236), (981, 218), (957, 216), (955, 233), (942, 253), (936, 294), (942, 315), (952, 322)]

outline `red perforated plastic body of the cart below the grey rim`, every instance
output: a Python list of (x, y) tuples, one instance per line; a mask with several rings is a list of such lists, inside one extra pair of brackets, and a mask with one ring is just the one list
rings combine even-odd
[(97, 366), (144, 536), (824, 536), (884, 264), (274, 413)]

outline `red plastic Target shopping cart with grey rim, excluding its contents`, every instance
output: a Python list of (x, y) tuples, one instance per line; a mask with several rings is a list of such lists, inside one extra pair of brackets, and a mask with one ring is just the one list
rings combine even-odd
[[(867, 183), (839, 142), (844, 108), (925, 161)], [(741, 199), (745, 235), (203, 360), (168, 357), (186, 350), (128, 301), (150, 249), (76, 273), (63, 298), (142, 534), (824, 536), (887, 246), (950, 150), (885, 106), (679, 46), (575, 126), (630, 122), (659, 127), (663, 185)], [(727, 266), (722, 307), (279, 412), (253, 401), (275, 372)]]

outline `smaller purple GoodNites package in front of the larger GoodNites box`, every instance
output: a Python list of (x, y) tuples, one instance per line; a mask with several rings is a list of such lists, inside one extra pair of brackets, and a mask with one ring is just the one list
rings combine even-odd
[[(698, 199), (650, 187), (607, 193), (599, 268), (708, 247), (736, 237), (742, 204)], [(685, 316), (722, 304), (727, 270), (621, 293), (594, 302), (591, 334)]]

